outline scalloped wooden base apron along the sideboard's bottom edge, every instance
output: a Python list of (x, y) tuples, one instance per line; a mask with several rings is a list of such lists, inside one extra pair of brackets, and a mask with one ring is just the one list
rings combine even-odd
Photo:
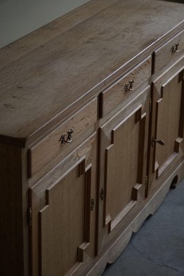
[[(128, 224), (127, 227), (121, 231), (121, 233), (119, 233), (119, 236), (114, 239), (114, 242), (112, 242), (111, 246), (109, 246), (109, 248), (105, 250), (103, 254), (97, 257), (96, 266), (94, 266), (88, 273), (84, 273), (83, 275), (101, 275), (105, 270), (106, 264), (112, 264), (119, 257), (119, 255), (121, 255), (122, 251), (125, 250), (128, 242), (130, 242), (132, 234), (136, 233), (143, 224), (143, 221), (145, 221), (149, 215), (154, 215), (155, 211), (159, 208), (165, 199), (165, 195), (167, 195), (170, 189), (172, 180), (176, 175), (178, 176), (178, 182), (183, 179), (184, 163), (182, 163), (176, 170), (173, 171), (172, 175), (170, 175), (167, 181), (163, 181), (163, 179), (161, 179), (159, 182), (159, 189), (156, 191), (154, 196), (151, 199), (147, 199), (144, 208), (141, 209), (138, 215), (136, 215), (134, 219), (132, 219), (131, 223)], [(80, 275), (76, 274), (76, 276)]]

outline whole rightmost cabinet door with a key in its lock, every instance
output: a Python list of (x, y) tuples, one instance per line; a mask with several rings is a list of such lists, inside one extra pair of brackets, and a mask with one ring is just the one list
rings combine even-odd
[(152, 83), (150, 184), (183, 158), (183, 70), (172, 70)]

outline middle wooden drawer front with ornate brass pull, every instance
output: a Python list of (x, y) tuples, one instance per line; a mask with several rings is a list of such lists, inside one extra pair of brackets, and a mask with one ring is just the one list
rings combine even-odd
[(150, 81), (152, 72), (152, 59), (148, 57), (130, 72), (121, 77), (112, 86), (101, 92), (100, 95), (100, 117), (106, 115), (119, 103), (134, 98), (134, 92), (139, 86)]

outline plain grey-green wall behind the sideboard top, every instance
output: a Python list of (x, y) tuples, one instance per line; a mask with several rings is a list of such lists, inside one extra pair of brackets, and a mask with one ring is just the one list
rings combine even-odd
[(0, 0), (0, 48), (89, 0)]

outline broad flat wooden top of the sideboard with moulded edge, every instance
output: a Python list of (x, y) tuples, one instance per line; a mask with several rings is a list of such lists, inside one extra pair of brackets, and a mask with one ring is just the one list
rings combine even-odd
[(23, 145), (182, 30), (183, 15), (166, 1), (92, 0), (1, 49), (0, 141)]

